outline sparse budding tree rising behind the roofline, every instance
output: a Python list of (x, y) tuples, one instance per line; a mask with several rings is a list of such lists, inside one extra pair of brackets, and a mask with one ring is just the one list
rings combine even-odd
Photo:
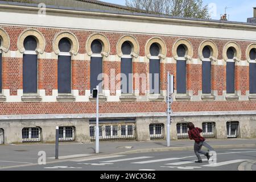
[(210, 18), (208, 6), (203, 5), (203, 0), (126, 0), (126, 6), (139, 13)]

